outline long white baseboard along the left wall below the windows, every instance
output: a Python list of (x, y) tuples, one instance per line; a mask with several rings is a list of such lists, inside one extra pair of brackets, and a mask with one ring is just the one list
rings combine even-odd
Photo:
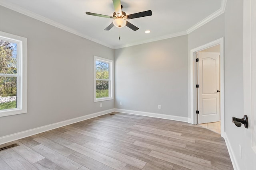
[(45, 131), (50, 131), (50, 130), (56, 129), (58, 127), (70, 125), (72, 123), (76, 123), (76, 122), (83, 121), (83, 120), (86, 120), (86, 119), (91, 119), (93, 117), (97, 117), (97, 116), (100, 116), (100, 115), (105, 115), (105, 114), (108, 114), (108, 113), (112, 113), (113, 111), (115, 111), (115, 109), (100, 111), (100, 112), (97, 112), (97, 113), (92, 113), (92, 114), (89, 114), (89, 115), (84, 115), (84, 116), (81, 116), (81, 117), (76, 117), (76, 118), (73, 118), (73, 119), (60, 121), (60, 122), (53, 123), (53, 124), (50, 124), (50, 125), (45, 125), (45, 126), (37, 127), (37, 128), (34, 128), (34, 129), (29, 129), (27, 131), (22, 131), (22, 132), (14, 133), (14, 134), (7, 135), (7, 136), (4, 136), (4, 137), (0, 137), (0, 145), (2, 145), (4, 143), (11, 142), (11, 141), (16, 141), (16, 140), (22, 139), (24, 137), (36, 135), (38, 133), (42, 133), (42, 132), (45, 132)]

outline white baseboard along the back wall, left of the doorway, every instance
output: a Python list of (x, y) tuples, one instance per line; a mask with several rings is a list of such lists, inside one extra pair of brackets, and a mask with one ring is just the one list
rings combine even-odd
[(164, 114), (159, 114), (159, 113), (150, 113), (150, 112), (126, 110), (126, 109), (115, 109), (115, 111), (120, 112), (120, 113), (133, 114), (133, 115), (142, 115), (142, 116), (157, 117), (157, 118), (162, 118), (162, 119), (170, 119), (170, 120), (188, 122), (188, 117), (164, 115)]

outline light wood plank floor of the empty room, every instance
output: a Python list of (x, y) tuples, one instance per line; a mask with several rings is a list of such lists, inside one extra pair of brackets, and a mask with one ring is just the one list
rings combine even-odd
[(12, 143), (20, 146), (0, 151), (1, 170), (233, 170), (218, 133), (121, 113)]

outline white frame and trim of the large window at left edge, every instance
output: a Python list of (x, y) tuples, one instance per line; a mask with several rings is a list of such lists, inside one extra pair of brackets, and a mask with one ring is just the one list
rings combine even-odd
[[(17, 77), (17, 108), (0, 110), (0, 117), (27, 113), (27, 39), (0, 31), (0, 38), (17, 43), (17, 74), (4, 74)], [(3, 75), (3, 74), (1, 74)]]

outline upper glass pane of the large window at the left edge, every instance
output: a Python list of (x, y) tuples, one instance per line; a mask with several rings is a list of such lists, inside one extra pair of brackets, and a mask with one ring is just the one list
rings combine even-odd
[(0, 73), (17, 74), (17, 44), (0, 39)]

